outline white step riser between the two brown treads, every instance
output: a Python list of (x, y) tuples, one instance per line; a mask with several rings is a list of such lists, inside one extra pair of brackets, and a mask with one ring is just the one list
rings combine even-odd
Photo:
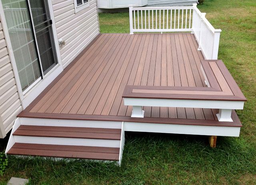
[(16, 143), (54, 144), (72, 146), (100, 146), (119, 148), (120, 140), (82, 139), (82, 138), (53, 138), (34, 136), (14, 136)]

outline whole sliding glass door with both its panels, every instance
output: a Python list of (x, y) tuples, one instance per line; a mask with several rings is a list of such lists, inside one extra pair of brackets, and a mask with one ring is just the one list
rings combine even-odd
[(47, 0), (2, 0), (22, 91), (57, 64)]

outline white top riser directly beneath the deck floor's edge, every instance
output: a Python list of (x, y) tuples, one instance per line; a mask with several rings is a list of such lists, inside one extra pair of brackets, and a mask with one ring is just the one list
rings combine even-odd
[(87, 128), (122, 128), (122, 122), (90, 121), (90, 120), (60, 120), (44, 118), (20, 118), (21, 125), (34, 126), (71, 126)]

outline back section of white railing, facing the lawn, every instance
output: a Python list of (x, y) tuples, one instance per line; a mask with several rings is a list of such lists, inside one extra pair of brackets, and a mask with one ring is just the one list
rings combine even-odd
[(192, 10), (192, 6), (130, 6), (130, 33), (192, 31)]

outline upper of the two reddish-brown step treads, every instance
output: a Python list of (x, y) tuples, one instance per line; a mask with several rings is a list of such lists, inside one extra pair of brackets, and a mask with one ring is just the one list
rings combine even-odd
[[(36, 130), (36, 128), (38, 130)], [(102, 139), (102, 140), (120, 140), (121, 132), (101, 133), (101, 132), (77, 132), (77, 128), (69, 127), (70, 130), (64, 130), (61, 127), (51, 128), (51, 126), (25, 126), (21, 125), (14, 133), (14, 136), (35, 136), (35, 137), (55, 137), (55, 138), (83, 138), (83, 139)], [(53, 129), (53, 130), (51, 130)], [(67, 129), (67, 128), (65, 128)], [(81, 129), (82, 130), (82, 129)], [(104, 129), (105, 130), (105, 129)], [(99, 131), (99, 130), (98, 130)], [(103, 132), (103, 131), (102, 131)]]

